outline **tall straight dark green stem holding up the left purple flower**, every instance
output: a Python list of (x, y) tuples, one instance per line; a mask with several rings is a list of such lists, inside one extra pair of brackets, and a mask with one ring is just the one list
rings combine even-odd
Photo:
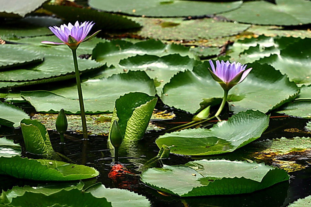
[(76, 72), (76, 79), (77, 79), (77, 88), (78, 88), (78, 96), (79, 96), (80, 111), (81, 111), (83, 138), (87, 139), (86, 118), (85, 118), (85, 110), (84, 110), (84, 103), (83, 103), (83, 96), (82, 96), (80, 73), (79, 73), (78, 61), (77, 61), (77, 49), (71, 49), (71, 50), (72, 50), (73, 63), (75, 65), (75, 72)]

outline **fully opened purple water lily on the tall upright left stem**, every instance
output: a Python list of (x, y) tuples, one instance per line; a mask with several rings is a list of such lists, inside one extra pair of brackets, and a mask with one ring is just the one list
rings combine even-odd
[[(42, 41), (41, 43), (46, 45), (58, 46), (67, 44), (71, 49), (77, 49), (80, 43), (89, 41), (90, 39), (94, 38), (96, 34), (100, 32), (97, 31), (92, 34), (90, 37), (86, 38), (86, 35), (89, 34), (90, 30), (92, 29), (93, 21), (85, 21), (79, 24), (78, 21), (74, 25), (69, 23), (68, 25), (60, 25), (60, 27), (53, 26), (49, 27), (49, 29), (58, 37), (63, 43), (55, 43), (49, 41)], [(85, 39), (86, 38), (86, 39)]]

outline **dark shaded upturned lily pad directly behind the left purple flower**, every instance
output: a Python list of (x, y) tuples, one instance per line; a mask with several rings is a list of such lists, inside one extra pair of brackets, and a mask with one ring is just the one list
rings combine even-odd
[(103, 30), (132, 29), (141, 27), (136, 22), (126, 17), (96, 11), (90, 8), (68, 7), (58, 5), (44, 5), (44, 9), (52, 11), (59, 17), (69, 22), (94, 21), (94, 28)]

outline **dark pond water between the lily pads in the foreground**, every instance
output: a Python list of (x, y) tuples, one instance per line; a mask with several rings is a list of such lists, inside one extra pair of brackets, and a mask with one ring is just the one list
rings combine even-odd
[[(165, 106), (157, 106), (160, 110), (164, 109)], [(24, 106), (28, 111), (32, 108)], [(165, 108), (172, 110), (170, 108)], [(158, 125), (173, 127), (174, 124), (170, 122), (178, 122), (184, 120), (190, 120), (191, 115), (186, 113), (181, 113), (176, 110), (174, 112), (177, 114), (174, 120), (169, 121), (158, 121)], [(279, 115), (279, 114), (272, 114)], [(285, 132), (284, 129), (288, 128), (298, 128), (303, 129), (307, 119), (299, 119), (292, 117), (281, 117), (281, 118), (271, 118), (270, 126), (267, 128), (265, 133), (263, 133), (260, 140), (271, 139), (276, 137), (295, 137), (295, 136), (308, 136), (310, 134), (299, 132)], [(200, 197), (188, 197), (180, 198), (177, 196), (170, 196), (167, 194), (161, 194), (158, 191), (145, 186), (139, 180), (139, 174), (141, 173), (138, 169), (147, 160), (156, 156), (159, 149), (155, 144), (155, 139), (162, 132), (149, 132), (145, 134), (145, 137), (137, 148), (128, 155), (120, 157), (120, 162), (132, 172), (134, 175), (126, 174), (124, 176), (109, 178), (108, 173), (111, 170), (111, 164), (113, 162), (113, 157), (107, 149), (107, 138), (106, 136), (90, 136), (90, 140), (83, 141), (82, 135), (73, 134), (67, 132), (65, 134), (66, 145), (62, 148), (59, 145), (59, 136), (57, 132), (50, 131), (49, 135), (53, 148), (55, 151), (62, 152), (72, 161), (77, 164), (86, 164), (92, 166), (100, 171), (100, 176), (97, 178), (85, 180), (86, 186), (89, 186), (95, 182), (102, 182), (106, 187), (116, 187), (128, 189), (139, 194), (146, 196), (151, 200), (152, 206), (221, 206), (221, 207), (235, 207), (235, 206), (286, 206), (289, 203), (297, 200), (298, 198), (303, 198), (311, 194), (311, 168), (306, 168), (300, 171), (289, 173), (291, 178), (290, 182), (281, 182), (267, 189), (256, 191), (250, 194), (234, 195), (234, 196), (200, 196)], [(16, 142), (22, 143), (21, 129), (12, 129), (1, 127), (1, 136), (7, 136), (8, 138), (14, 138)], [(204, 156), (204, 157), (190, 157), (190, 156), (178, 156), (171, 154), (169, 159), (163, 160), (163, 164), (174, 165), (174, 164), (185, 164), (193, 159), (211, 159), (211, 158), (223, 158), (230, 157), (230, 160), (241, 160), (239, 154), (243, 153), (248, 146), (244, 146), (237, 150), (237, 153), (224, 154), (219, 156)], [(240, 152), (240, 153), (239, 153)], [(24, 155), (25, 152), (23, 152)], [(27, 155), (28, 156), (28, 155)], [(303, 162), (311, 162), (311, 156), (304, 158)], [(159, 166), (160, 167), (160, 166)], [(55, 183), (55, 182), (54, 182)], [(7, 190), (13, 186), (24, 186), (31, 185), (37, 186), (38, 184), (50, 184), (49, 182), (34, 182), (20, 180), (16, 178), (11, 178), (8, 176), (0, 176), (0, 190)], [(228, 186), (230, 187), (230, 186)]]

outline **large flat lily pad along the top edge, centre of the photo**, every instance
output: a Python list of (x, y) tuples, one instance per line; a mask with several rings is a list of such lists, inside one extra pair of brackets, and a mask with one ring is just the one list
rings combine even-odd
[(120, 0), (118, 2), (90, 0), (89, 5), (93, 8), (109, 11), (122, 12), (135, 16), (200, 16), (213, 15), (240, 7), (242, 1), (235, 2), (197, 2), (197, 1), (163, 1), (150, 0), (146, 4), (143, 0)]

